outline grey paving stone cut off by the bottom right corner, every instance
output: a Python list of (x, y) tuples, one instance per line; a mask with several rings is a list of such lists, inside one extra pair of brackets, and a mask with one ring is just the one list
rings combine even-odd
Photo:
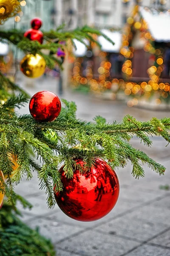
[(126, 256), (170, 256), (170, 250), (151, 245), (143, 245)]

